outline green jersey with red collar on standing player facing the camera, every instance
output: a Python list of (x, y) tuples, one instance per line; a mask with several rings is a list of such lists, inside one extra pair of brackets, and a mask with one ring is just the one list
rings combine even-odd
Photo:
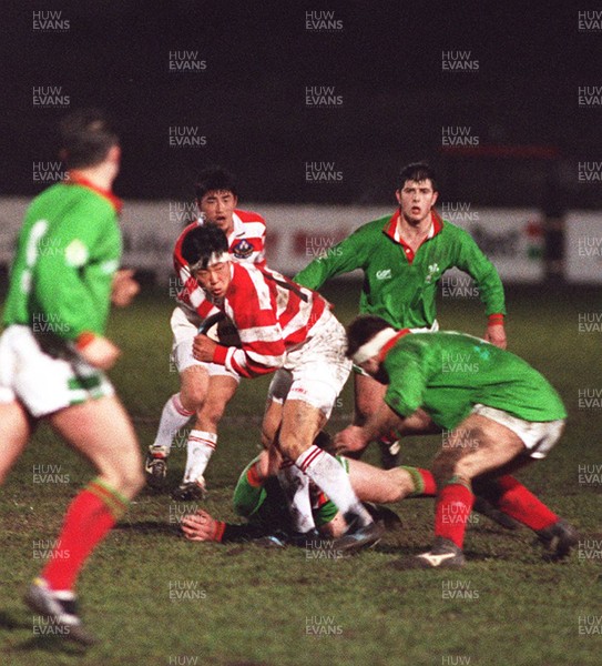
[(486, 314), (506, 314), (498, 272), (470, 234), (432, 211), (435, 233), (414, 254), (395, 240), (398, 220), (399, 211), (364, 224), (293, 280), (319, 290), (328, 279), (361, 269), (359, 312), (380, 316), (395, 329), (416, 329), (432, 325), (437, 283), (456, 266), (475, 280)]

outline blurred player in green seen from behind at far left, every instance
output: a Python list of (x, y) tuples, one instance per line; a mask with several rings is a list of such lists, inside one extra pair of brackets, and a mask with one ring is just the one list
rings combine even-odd
[(0, 482), (39, 418), (99, 472), (72, 501), (58, 544), (27, 604), (62, 635), (92, 642), (73, 592), (94, 547), (144, 484), (134, 430), (104, 372), (119, 349), (104, 329), (110, 301), (137, 292), (121, 258), (112, 194), (120, 168), (118, 137), (102, 113), (80, 111), (61, 123), (68, 179), (35, 198), (21, 229), (0, 337)]

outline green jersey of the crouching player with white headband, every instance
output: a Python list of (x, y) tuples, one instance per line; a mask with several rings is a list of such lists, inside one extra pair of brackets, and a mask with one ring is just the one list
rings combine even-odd
[(456, 427), (476, 404), (524, 421), (565, 418), (552, 385), (527, 361), (462, 333), (409, 333), (387, 352), (385, 402), (401, 416), (422, 407), (439, 426)]

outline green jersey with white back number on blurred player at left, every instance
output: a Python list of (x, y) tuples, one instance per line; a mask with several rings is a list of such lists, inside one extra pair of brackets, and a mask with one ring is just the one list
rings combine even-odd
[(104, 333), (122, 250), (120, 204), (83, 180), (57, 183), (33, 200), (11, 266), (4, 324), (65, 340)]

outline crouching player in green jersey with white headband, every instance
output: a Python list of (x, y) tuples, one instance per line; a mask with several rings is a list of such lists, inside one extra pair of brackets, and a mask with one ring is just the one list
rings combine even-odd
[(567, 412), (558, 393), (526, 361), (460, 333), (395, 331), (380, 317), (357, 317), (347, 331), (347, 354), (387, 385), (385, 402), (365, 425), (335, 436), (339, 448), (361, 450), (417, 410), (451, 431), (437, 454), (435, 543), (415, 564), (453, 567), (462, 545), (473, 492), (534, 529), (563, 556), (577, 543), (561, 521), (510, 473), (545, 457), (559, 440)]

